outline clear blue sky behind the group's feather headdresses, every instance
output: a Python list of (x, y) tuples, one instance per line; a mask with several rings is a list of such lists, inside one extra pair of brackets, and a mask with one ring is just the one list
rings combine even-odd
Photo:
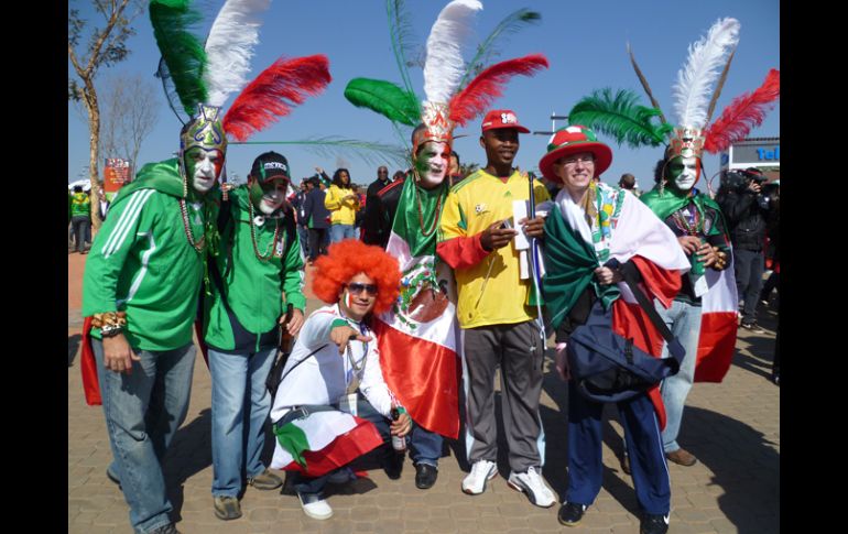
[[(72, 0), (84, 13), (91, 11), (85, 0)], [(407, 0), (416, 42), (423, 46), (430, 28), (447, 0)], [(515, 111), (519, 120), (531, 130), (550, 130), (553, 111), (565, 115), (570, 107), (592, 89), (610, 86), (635, 90), (642, 102), (650, 105), (630, 65), (626, 43), (633, 46), (640, 67), (648, 78), (666, 117), (672, 117), (671, 87), (685, 61), (687, 46), (706, 33), (721, 17), (733, 17), (741, 23), (739, 46), (733, 57), (714, 119), (736, 96), (758, 87), (770, 68), (780, 68), (780, 2), (775, 0), (710, 0), (680, 1), (595, 1), (566, 0), (482, 0), (483, 11), (477, 18), (477, 33), (470, 42), (476, 45), (508, 13), (521, 7), (542, 14), (535, 25), (508, 37), (498, 61), (531, 53), (543, 53), (551, 68), (533, 78), (515, 77), (509, 84), (497, 107)], [(224, 4), (222, 0), (198, 2), (208, 6), (203, 25), (205, 39), (211, 21)], [(111, 74), (141, 74), (153, 77), (159, 51), (145, 12), (135, 20), (137, 35), (129, 41), (130, 56), (119, 65), (102, 69), (98, 88)], [(287, 0), (274, 1), (265, 14), (256, 47), (251, 78), (280, 55), (298, 57), (325, 54), (329, 58), (333, 81), (326, 90), (282, 118), (275, 126), (253, 135), (250, 141), (284, 141), (326, 135), (399, 143), (390, 122), (377, 113), (355, 108), (344, 97), (347, 83), (355, 77), (369, 77), (400, 83), (391, 52), (383, 0)], [(466, 54), (470, 59), (470, 54)], [(70, 64), (68, 63), (70, 73)], [(420, 68), (411, 69), (413, 85), (424, 96)], [(159, 94), (162, 108), (153, 132), (144, 140), (140, 163), (171, 157), (178, 148), (181, 123)], [(233, 97), (225, 105), (229, 106)], [(131, 102), (128, 102), (131, 106)], [(455, 134), (467, 134), (455, 142), (463, 162), (485, 163), (478, 144), (480, 120)], [(558, 126), (564, 126), (558, 122)], [(780, 135), (780, 103), (763, 124), (750, 137)], [(652, 168), (660, 149), (631, 150), (619, 148), (611, 140), (612, 166), (602, 179), (617, 183), (622, 173), (637, 176), (639, 186), (653, 185)], [(545, 152), (547, 137), (522, 135), (517, 164), (534, 170)], [(350, 168), (354, 182), (367, 184), (376, 178), (377, 164), (356, 156), (319, 156), (305, 149), (274, 145), (231, 145), (227, 154), (230, 175), (244, 177), (253, 159), (265, 150), (283, 153), (290, 161), (294, 178), (314, 173), (319, 165), (329, 174), (339, 166)], [(107, 154), (101, 154), (101, 157)], [(718, 157), (705, 159), (707, 176), (718, 171)], [(77, 179), (88, 165), (88, 127), (80, 115), (68, 105), (68, 182)], [(102, 165), (102, 160), (101, 160)], [(396, 165), (389, 164), (390, 172)], [(101, 167), (102, 172), (102, 167)], [(717, 181), (714, 183), (717, 186)], [(699, 183), (699, 186), (704, 186)]]

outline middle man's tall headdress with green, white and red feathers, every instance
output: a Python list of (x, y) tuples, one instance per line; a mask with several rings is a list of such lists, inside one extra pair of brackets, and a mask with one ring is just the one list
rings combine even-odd
[(472, 33), (474, 17), (482, 10), (482, 3), (479, 0), (453, 0), (442, 9), (427, 37), (423, 66), (424, 98), (418, 98), (406, 72), (409, 23), (403, 13), (403, 2), (387, 0), (387, 8), (392, 51), (398, 58), (403, 87), (385, 80), (354, 78), (345, 88), (345, 97), (354, 106), (368, 108), (388, 118), (399, 134), (399, 124), (415, 127), (423, 123), (425, 128), (415, 130), (413, 156), (425, 141), (450, 144), (454, 128), (482, 115), (501, 96), (503, 87), (513, 76), (532, 76), (548, 66), (543, 55), (533, 54), (485, 68), (485, 61), (494, 54), (494, 46), (502, 35), (541, 18), (526, 9), (520, 9), (501, 21), (477, 47), (475, 57), (465, 62), (463, 52)]

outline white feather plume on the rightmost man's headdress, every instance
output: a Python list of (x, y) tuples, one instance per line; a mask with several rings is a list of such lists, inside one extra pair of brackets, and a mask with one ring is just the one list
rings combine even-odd
[(719, 19), (706, 37), (689, 45), (686, 64), (677, 72), (677, 83), (672, 87), (678, 126), (706, 127), (713, 84), (738, 42), (739, 21), (727, 18)]

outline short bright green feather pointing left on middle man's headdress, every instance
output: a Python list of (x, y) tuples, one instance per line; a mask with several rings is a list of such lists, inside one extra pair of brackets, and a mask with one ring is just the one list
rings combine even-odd
[(354, 78), (345, 87), (345, 98), (354, 106), (377, 111), (393, 122), (414, 127), (421, 121), (417, 97), (391, 81)]

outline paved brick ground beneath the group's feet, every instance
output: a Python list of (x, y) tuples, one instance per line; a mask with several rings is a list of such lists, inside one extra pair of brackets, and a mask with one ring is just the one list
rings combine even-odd
[[(68, 533), (131, 533), (123, 495), (105, 476), (111, 454), (102, 413), (85, 404), (81, 391), (78, 284), (84, 260), (78, 254), (68, 255)], [(309, 309), (316, 305), (311, 301)], [(769, 331), (753, 335), (740, 330), (733, 366), (724, 383), (696, 384), (689, 394), (680, 442), (700, 461), (688, 468), (670, 466), (672, 533), (780, 532), (780, 389), (769, 381), (776, 320), (772, 310), (761, 315)], [(548, 359), (542, 395), (547, 434), (544, 475), (558, 494), (566, 483), (565, 393), (565, 384)], [(557, 506), (535, 508), (507, 486), (509, 467), (503, 458), (499, 461), (501, 477), (491, 481), (486, 493), (461, 493), (459, 484), (467, 466), (457, 458), (456, 448), (441, 460), (438, 481), (427, 491), (415, 488), (415, 471), (407, 459), (400, 480), (371, 470), (368, 478), (335, 489), (329, 498), (335, 515), (329, 521), (306, 517), (295, 497), (252, 488), (242, 499), (244, 515), (232, 522), (219, 521), (209, 492), (209, 373), (198, 357), (188, 417), (165, 466), (177, 526), (185, 534), (566, 530), (556, 521)], [(579, 530), (568, 532), (639, 532), (632, 480), (618, 461), (622, 431), (616, 412), (608, 406), (604, 488)], [(270, 449), (267, 453), (270, 457)]]

